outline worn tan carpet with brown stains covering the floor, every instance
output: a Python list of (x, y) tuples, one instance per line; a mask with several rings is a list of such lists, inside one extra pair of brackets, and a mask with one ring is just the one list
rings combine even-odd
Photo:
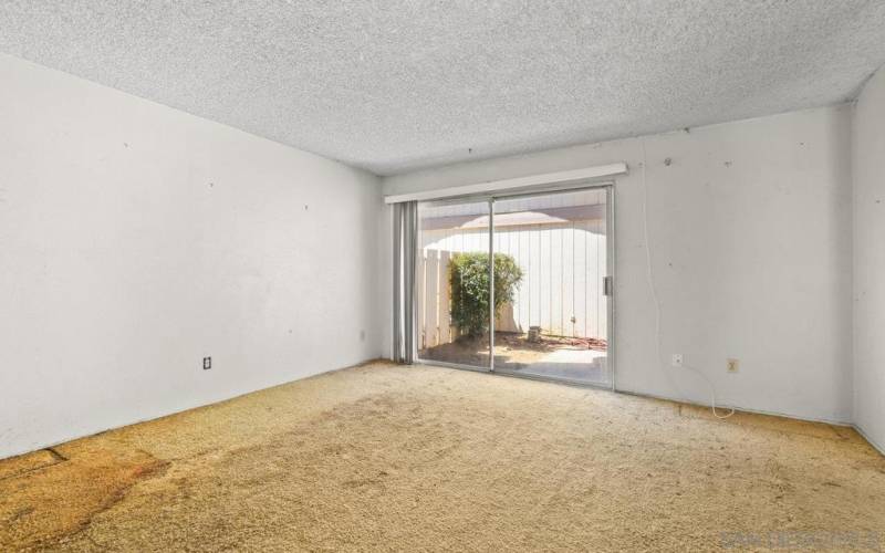
[(885, 546), (885, 458), (847, 428), (437, 367), (369, 364), (0, 461), (0, 551), (778, 540)]

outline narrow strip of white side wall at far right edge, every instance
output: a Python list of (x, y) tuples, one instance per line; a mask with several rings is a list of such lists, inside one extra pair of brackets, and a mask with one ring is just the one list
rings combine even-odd
[(854, 112), (854, 420), (885, 451), (885, 69)]

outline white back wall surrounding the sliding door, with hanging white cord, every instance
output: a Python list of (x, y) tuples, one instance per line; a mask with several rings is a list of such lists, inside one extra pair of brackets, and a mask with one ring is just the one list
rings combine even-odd
[[(385, 194), (626, 161), (616, 182), (617, 387), (846, 422), (851, 106), (789, 113), (388, 177)], [(670, 165), (665, 159), (670, 159)], [(646, 278), (644, 186), (662, 359)], [(386, 286), (389, 288), (389, 286)], [(738, 374), (726, 359), (740, 359)]]

